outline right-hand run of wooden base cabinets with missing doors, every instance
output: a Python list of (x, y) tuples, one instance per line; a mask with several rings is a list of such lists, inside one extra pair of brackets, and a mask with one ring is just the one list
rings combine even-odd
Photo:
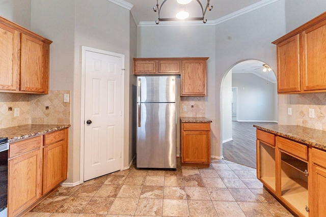
[(296, 216), (325, 215), (325, 150), (257, 130), (257, 178)]

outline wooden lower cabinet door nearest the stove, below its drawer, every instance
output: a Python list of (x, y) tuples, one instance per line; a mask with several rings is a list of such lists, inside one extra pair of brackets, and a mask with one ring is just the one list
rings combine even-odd
[(41, 149), (12, 159), (8, 165), (8, 216), (16, 216), (41, 197)]

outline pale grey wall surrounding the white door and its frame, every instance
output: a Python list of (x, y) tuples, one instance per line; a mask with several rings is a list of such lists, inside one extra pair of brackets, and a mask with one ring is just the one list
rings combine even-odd
[[(71, 127), (69, 128), (68, 179), (79, 181), (80, 159), (80, 85), (82, 46), (125, 55), (124, 162), (129, 166), (129, 80), (130, 12), (107, 0), (32, 0), (32, 30), (53, 41), (50, 46), (50, 89), (71, 90)], [(135, 53), (135, 52), (134, 52)]]

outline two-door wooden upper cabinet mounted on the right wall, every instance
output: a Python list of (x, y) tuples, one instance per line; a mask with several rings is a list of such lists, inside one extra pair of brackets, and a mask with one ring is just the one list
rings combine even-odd
[(326, 12), (273, 42), (278, 93), (326, 91)]

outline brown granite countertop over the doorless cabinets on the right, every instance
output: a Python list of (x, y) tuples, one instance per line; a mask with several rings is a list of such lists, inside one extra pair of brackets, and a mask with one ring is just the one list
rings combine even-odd
[(326, 151), (326, 131), (293, 125), (254, 125), (258, 130), (282, 136)]

